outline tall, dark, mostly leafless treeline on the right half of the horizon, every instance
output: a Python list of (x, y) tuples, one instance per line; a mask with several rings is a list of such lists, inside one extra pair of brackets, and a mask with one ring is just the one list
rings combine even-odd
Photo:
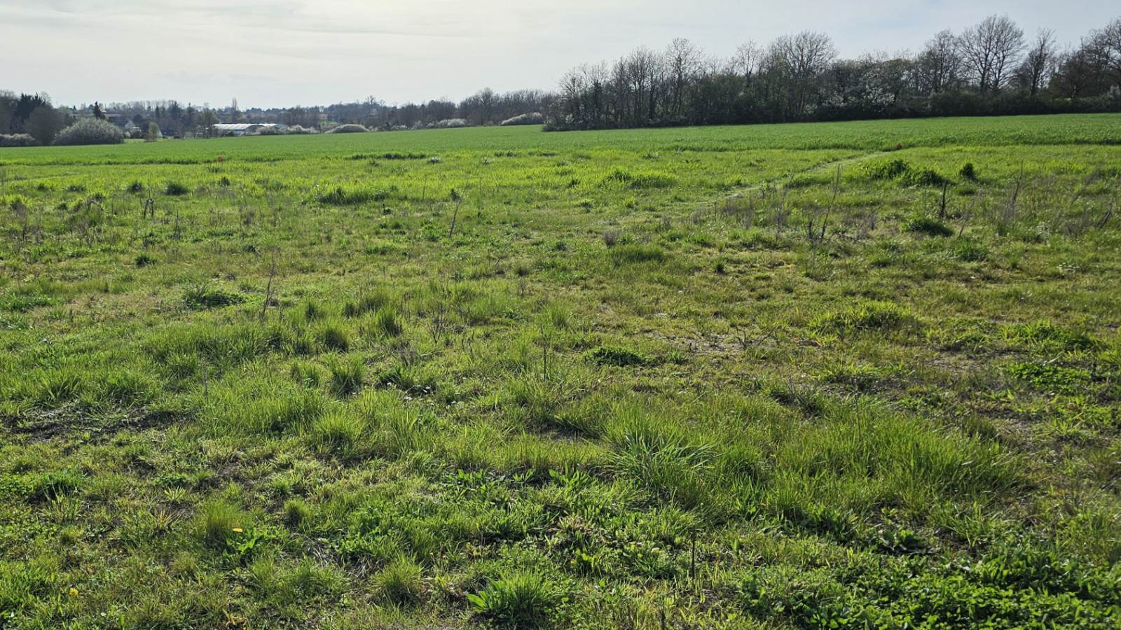
[(1121, 18), (1059, 47), (1007, 16), (944, 30), (917, 54), (839, 58), (804, 31), (710, 57), (687, 39), (565, 74), (547, 129), (1121, 111)]

